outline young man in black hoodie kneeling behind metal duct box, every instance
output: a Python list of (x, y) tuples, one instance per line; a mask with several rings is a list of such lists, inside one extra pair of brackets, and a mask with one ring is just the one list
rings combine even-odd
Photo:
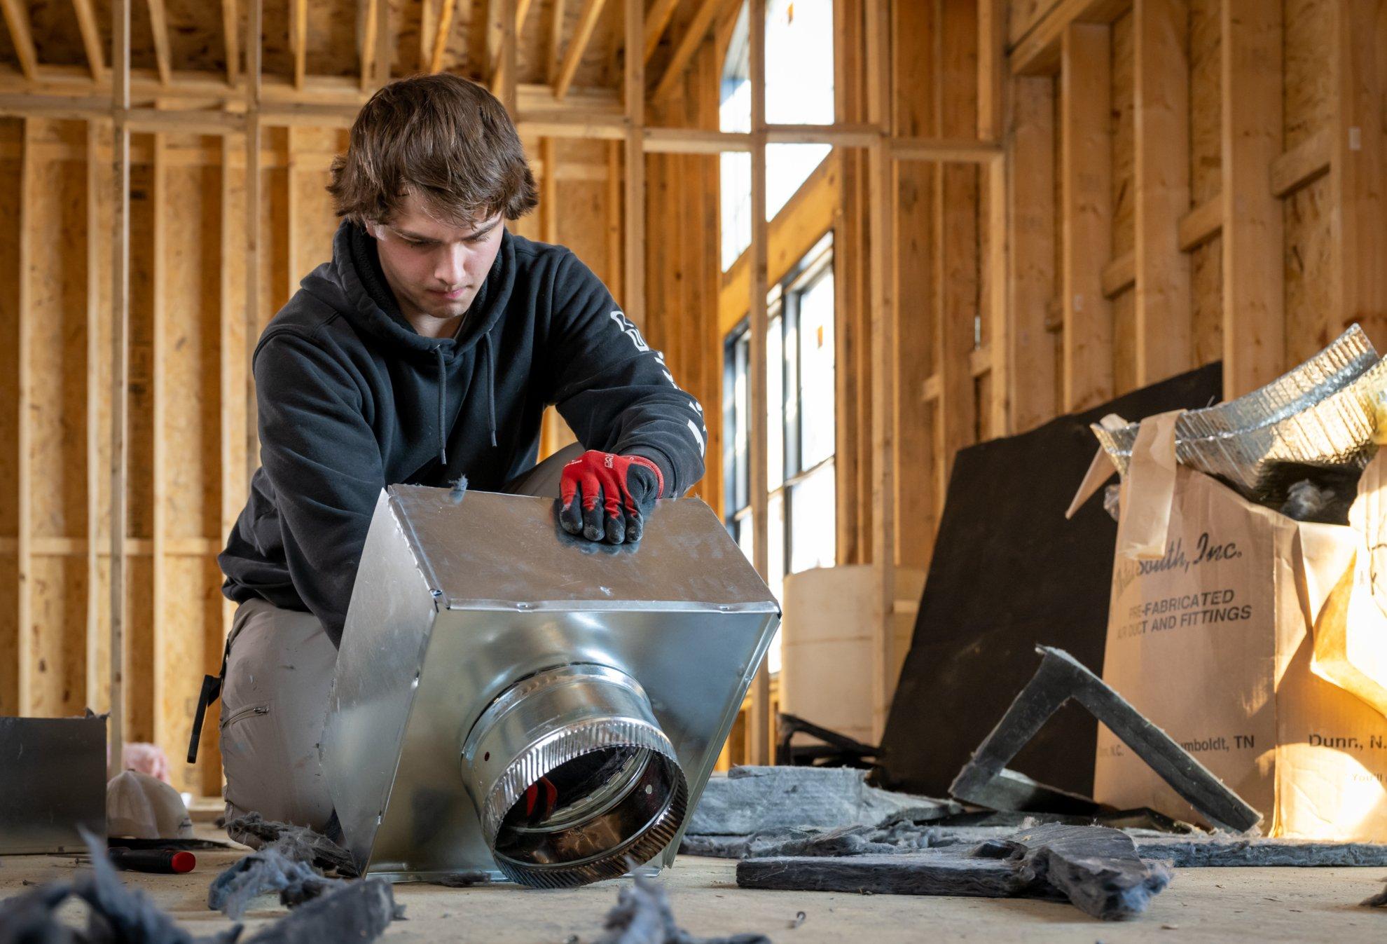
[(262, 465), (218, 558), (240, 604), (222, 691), (227, 819), (316, 829), (331, 815), (318, 740), (384, 486), (498, 490), (534, 465), (558, 404), (588, 450), (563, 468), (563, 528), (637, 541), (656, 497), (703, 475), (706, 443), (698, 401), (602, 282), (506, 229), (535, 185), (481, 86), (431, 75), (377, 92), (329, 192), (344, 218), (333, 258), (255, 348)]

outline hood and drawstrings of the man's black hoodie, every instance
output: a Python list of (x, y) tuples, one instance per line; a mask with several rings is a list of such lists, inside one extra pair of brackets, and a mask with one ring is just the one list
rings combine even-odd
[(369, 335), (408, 357), (427, 358), (437, 371), (438, 460), (448, 462), (447, 415), (448, 365), (472, 348), (487, 368), (487, 414), (491, 446), (497, 444), (497, 365), (491, 330), (505, 314), (515, 287), (515, 239), (502, 226), (501, 248), (481, 289), (463, 315), (455, 337), (424, 337), (402, 314), (386, 283), (376, 253), (376, 240), (356, 224), (344, 219), (333, 235), (333, 261), (313, 269), (304, 280), (305, 292), (330, 305), (351, 322), (358, 333)]

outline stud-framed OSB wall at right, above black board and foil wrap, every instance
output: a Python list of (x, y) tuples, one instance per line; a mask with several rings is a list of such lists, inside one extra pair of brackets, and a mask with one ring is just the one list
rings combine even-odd
[(1368, 0), (1018, 1), (1011, 426), (1223, 360), (1225, 393), (1358, 322), (1387, 343)]

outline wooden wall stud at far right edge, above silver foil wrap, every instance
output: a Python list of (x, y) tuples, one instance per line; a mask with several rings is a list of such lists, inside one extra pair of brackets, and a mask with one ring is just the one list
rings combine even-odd
[(1387, 344), (1387, 19), (1376, 0), (1340, 0), (1334, 22), (1334, 121), (1330, 142), (1332, 307)]

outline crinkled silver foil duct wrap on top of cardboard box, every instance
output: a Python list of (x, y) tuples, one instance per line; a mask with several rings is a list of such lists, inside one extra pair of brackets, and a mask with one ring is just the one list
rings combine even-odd
[[(1252, 501), (1280, 505), (1294, 482), (1316, 471), (1356, 480), (1376, 448), (1376, 405), (1384, 389), (1387, 361), (1354, 325), (1265, 387), (1183, 414), (1175, 425), (1175, 455)], [(1123, 475), (1139, 426), (1092, 426)]]

